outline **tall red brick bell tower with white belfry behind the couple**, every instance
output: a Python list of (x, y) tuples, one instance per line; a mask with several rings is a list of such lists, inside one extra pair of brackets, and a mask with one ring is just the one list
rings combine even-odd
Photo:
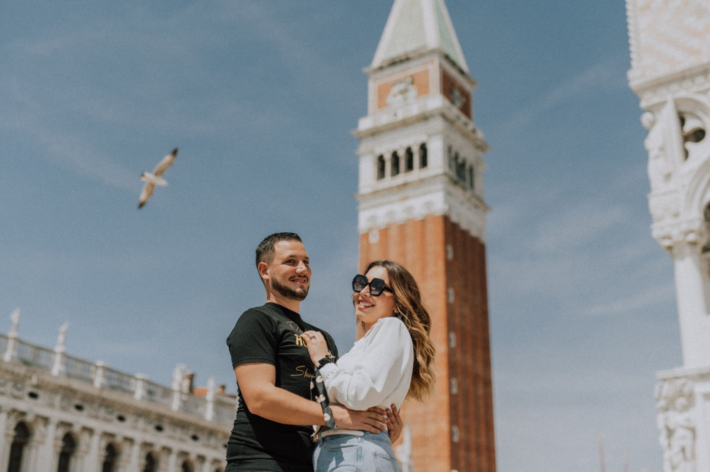
[(357, 200), (360, 267), (393, 259), (432, 314), (435, 395), (405, 405), (403, 471), (496, 470), (484, 158), (464, 54), (443, 0), (395, 0), (368, 75)]

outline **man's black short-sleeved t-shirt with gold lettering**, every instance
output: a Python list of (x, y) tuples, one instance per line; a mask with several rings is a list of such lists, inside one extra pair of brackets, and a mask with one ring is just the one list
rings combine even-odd
[[(303, 331), (321, 331), (329, 351), (338, 355), (325, 331), (304, 322), (280, 304), (250, 308), (226, 339), (232, 367), (263, 362), (276, 369), (276, 386), (310, 400), (313, 364), (300, 337)], [(239, 407), (226, 449), (227, 470), (312, 472), (313, 429), (280, 424), (254, 415), (239, 395)], [(236, 466), (236, 468), (234, 467)]]

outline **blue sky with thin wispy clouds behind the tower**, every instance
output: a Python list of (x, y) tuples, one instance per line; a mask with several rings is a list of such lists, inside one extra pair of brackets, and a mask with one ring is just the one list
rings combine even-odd
[[(356, 138), (391, 1), (0, 6), (0, 331), (236, 390), (253, 249), (296, 231), (302, 314), (353, 341)], [(682, 363), (650, 236), (623, 1), (453, 1), (486, 153), (498, 470), (662, 470), (655, 372)], [(141, 211), (141, 183), (178, 159)], [(2, 315), (5, 312), (6, 315)], [(7, 316), (2, 321), (3, 316)], [(3, 327), (4, 326), (4, 327)], [(406, 411), (405, 411), (406, 415)]]

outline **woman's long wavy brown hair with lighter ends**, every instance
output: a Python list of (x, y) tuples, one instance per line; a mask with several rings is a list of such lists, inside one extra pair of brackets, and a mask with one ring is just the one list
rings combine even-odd
[(417, 282), (407, 269), (393, 260), (373, 260), (362, 273), (377, 266), (387, 270), (395, 296), (393, 316), (404, 322), (414, 344), (414, 369), (407, 397), (422, 401), (432, 393), (435, 382), (433, 363), (437, 349), (430, 338), (432, 319), (422, 305)]

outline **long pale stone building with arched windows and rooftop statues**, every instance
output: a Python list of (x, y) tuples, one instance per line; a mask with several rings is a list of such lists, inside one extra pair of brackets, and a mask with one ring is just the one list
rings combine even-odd
[[(0, 334), (0, 471), (222, 472), (236, 400), (211, 379), (195, 395), (65, 353), (67, 326), (47, 349)], [(204, 390), (204, 389), (203, 389)]]

